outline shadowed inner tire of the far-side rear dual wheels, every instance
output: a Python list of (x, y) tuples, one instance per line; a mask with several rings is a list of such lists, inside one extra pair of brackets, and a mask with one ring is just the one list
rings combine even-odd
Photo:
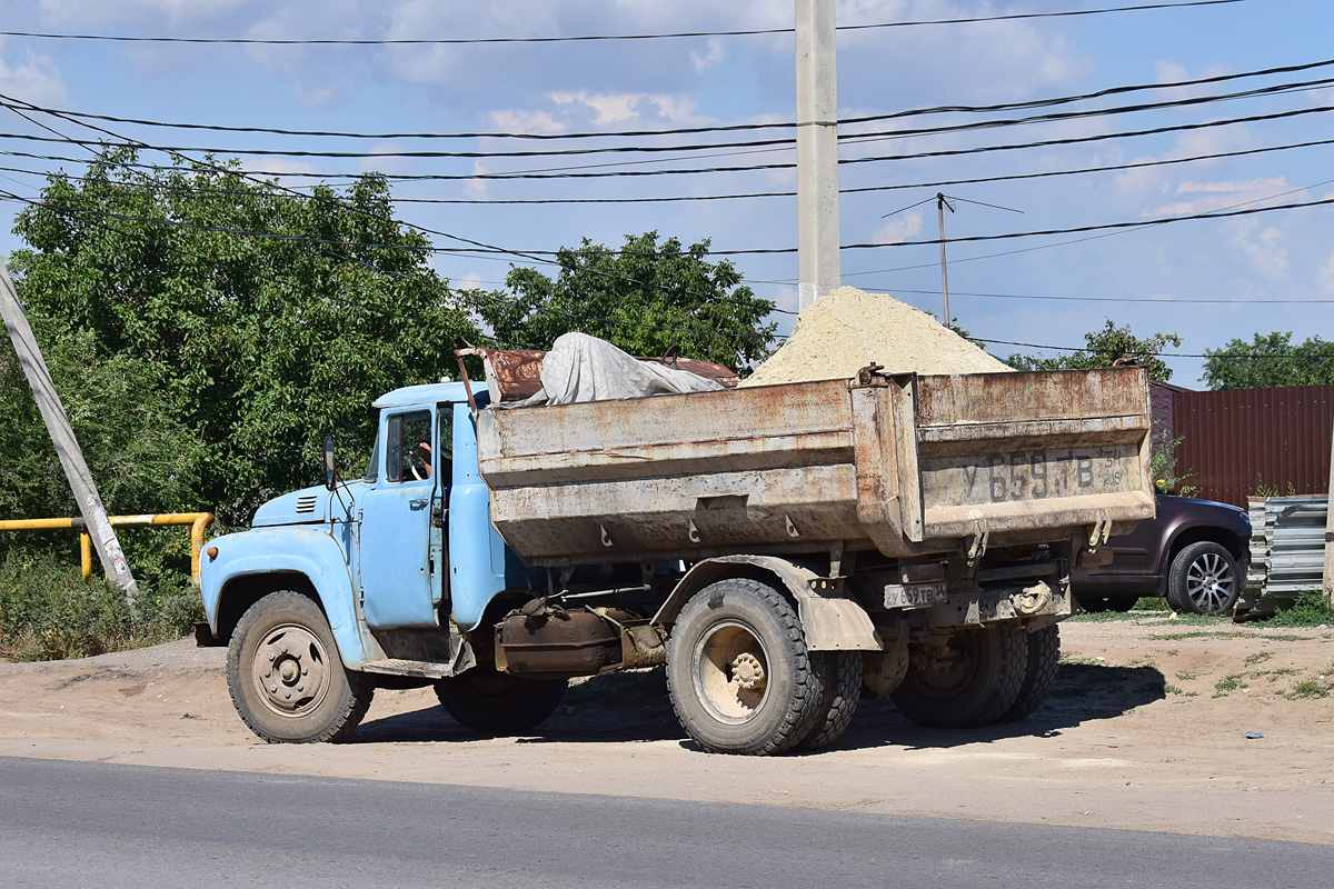
[(968, 628), (950, 637), (954, 662), (908, 669), (890, 696), (918, 725), (971, 729), (990, 725), (1019, 698), (1029, 665), (1026, 633), (1015, 626)]

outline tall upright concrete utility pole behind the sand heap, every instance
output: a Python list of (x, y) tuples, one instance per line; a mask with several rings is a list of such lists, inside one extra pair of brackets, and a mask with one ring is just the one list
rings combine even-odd
[(839, 285), (834, 0), (796, 0), (798, 308)]

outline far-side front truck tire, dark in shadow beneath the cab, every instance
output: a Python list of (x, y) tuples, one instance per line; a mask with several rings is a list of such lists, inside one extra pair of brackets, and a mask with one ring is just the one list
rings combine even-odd
[(435, 684), (444, 712), (478, 734), (522, 734), (556, 712), (566, 680), (535, 680), (478, 664)]

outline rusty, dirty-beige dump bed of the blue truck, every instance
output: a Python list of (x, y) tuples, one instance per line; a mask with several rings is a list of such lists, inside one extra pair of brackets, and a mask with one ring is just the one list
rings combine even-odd
[(482, 411), (491, 517), (535, 565), (1121, 532), (1154, 514), (1143, 369), (876, 376)]

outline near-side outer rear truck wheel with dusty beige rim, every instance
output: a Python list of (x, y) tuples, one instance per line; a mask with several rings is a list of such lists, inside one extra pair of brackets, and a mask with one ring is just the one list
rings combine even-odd
[(755, 580), (698, 592), (667, 640), (676, 718), (711, 753), (792, 749), (826, 716), (822, 680), (792, 605)]

